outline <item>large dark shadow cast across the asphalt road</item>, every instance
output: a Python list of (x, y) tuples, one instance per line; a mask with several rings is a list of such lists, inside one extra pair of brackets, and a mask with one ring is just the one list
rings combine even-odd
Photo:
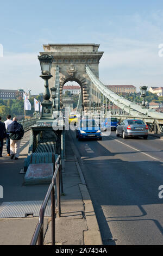
[[(139, 161), (139, 158), (136, 161), (124, 161), (118, 155), (136, 156), (138, 152), (129, 150), (112, 153), (103, 147), (102, 142), (77, 142), (74, 137), (73, 140), (80, 150), (80, 167), (96, 212), (104, 245), (116, 244), (116, 237), (112, 237), (110, 229), (110, 223), (113, 222), (150, 221), (154, 223), (158, 232), (163, 234), (159, 212), (153, 214), (155, 208), (161, 210), (160, 205), (163, 202), (163, 199), (159, 198), (158, 190), (163, 180), (163, 163)], [(104, 141), (111, 143), (114, 138), (105, 138)], [(151, 209), (146, 210), (149, 206)], [(110, 212), (110, 209), (115, 208), (120, 211), (126, 210), (120, 215), (115, 215), (114, 211)], [(128, 215), (128, 209), (133, 208), (136, 208), (136, 214), (129, 211)]]

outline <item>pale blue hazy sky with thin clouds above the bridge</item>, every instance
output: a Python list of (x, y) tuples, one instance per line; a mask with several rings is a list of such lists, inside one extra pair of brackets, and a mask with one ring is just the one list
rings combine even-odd
[(72, 43), (100, 44), (104, 84), (163, 87), (163, 1), (8, 0), (0, 3), (0, 89), (43, 92), (42, 45)]

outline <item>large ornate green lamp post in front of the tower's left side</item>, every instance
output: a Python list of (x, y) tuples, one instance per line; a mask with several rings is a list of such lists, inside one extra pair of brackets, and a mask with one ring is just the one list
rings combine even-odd
[(52, 118), (52, 101), (50, 101), (51, 94), (49, 93), (48, 80), (52, 77), (51, 68), (53, 62), (53, 56), (49, 56), (48, 54), (42, 54), (38, 56), (41, 66), (41, 78), (45, 81), (45, 93), (43, 94), (43, 102), (42, 105), (42, 113), (41, 119), (51, 119)]

